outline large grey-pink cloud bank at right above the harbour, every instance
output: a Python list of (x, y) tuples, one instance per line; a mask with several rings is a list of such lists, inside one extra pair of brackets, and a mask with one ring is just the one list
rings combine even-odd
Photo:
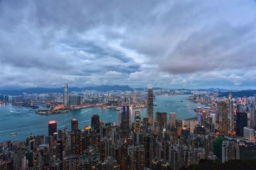
[(256, 49), (253, 48), (256, 39), (252, 39), (253, 36), (254, 22), (243, 26), (219, 23), (214, 27), (203, 27), (180, 41), (160, 64), (164, 71), (175, 74), (245, 67), (252, 69), (256, 66)]

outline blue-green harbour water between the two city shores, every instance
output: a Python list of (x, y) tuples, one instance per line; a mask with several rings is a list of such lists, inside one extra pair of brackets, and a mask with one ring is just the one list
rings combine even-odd
[[(156, 96), (154, 104), (154, 117), (157, 111), (167, 112), (168, 117), (170, 112), (176, 112), (177, 118), (190, 118), (195, 116), (193, 111), (199, 104), (186, 101), (186, 95), (161, 97)], [(180, 102), (183, 100), (184, 102)], [(191, 108), (187, 108), (186, 104), (189, 103)], [(103, 122), (117, 122), (118, 111), (113, 109), (100, 109), (100, 108), (86, 108), (83, 110), (70, 111), (68, 113), (61, 113), (59, 115), (38, 115), (34, 111), (29, 111), (27, 108), (20, 108), (6, 104), (0, 106), (0, 142), (11, 139), (25, 140), (29, 137), (30, 133), (33, 134), (47, 134), (47, 123), (50, 120), (56, 120), (58, 129), (67, 127), (70, 129), (70, 121), (72, 118), (77, 118), (79, 128), (83, 129), (85, 125), (91, 124), (91, 117), (94, 113), (100, 116)], [(141, 120), (146, 117), (147, 109), (141, 110)], [(134, 110), (131, 110), (131, 120), (134, 120)], [(11, 132), (17, 132), (17, 136), (10, 136)]]

